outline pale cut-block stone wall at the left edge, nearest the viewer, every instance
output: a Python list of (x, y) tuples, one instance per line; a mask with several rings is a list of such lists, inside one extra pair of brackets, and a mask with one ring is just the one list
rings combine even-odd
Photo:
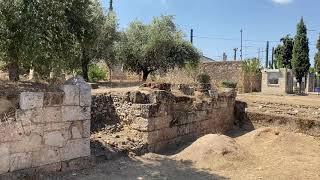
[(80, 78), (61, 92), (22, 92), (14, 117), (0, 123), (0, 174), (90, 156), (91, 88)]

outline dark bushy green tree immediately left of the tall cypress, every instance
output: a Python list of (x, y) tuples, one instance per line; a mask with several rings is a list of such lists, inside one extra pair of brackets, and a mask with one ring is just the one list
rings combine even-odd
[(293, 50), (293, 39), (286, 35), (281, 39), (282, 44), (278, 45), (275, 49), (275, 59), (278, 68), (292, 68), (292, 50)]

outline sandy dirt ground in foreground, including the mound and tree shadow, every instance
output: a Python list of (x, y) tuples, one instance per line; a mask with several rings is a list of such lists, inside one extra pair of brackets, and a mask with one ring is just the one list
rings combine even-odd
[(320, 179), (320, 139), (262, 128), (206, 135), (174, 155), (123, 157), (55, 179)]

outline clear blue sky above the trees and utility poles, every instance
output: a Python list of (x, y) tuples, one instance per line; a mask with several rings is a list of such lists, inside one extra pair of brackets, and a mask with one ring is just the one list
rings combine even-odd
[[(106, 8), (108, 2), (103, 0)], [(121, 29), (133, 20), (148, 23), (155, 16), (174, 15), (186, 38), (193, 28), (194, 45), (217, 60), (223, 52), (233, 59), (233, 49), (240, 48), (241, 28), (244, 58), (257, 57), (258, 48), (265, 50), (267, 40), (273, 47), (284, 35), (294, 36), (296, 24), (303, 16), (312, 30), (308, 36), (313, 63), (320, 33), (319, 7), (319, 0), (114, 0)], [(265, 52), (260, 56), (265, 57)]]

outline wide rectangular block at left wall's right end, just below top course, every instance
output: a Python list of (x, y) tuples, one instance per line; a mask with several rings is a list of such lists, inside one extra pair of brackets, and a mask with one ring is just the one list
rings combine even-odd
[(63, 106), (62, 119), (63, 121), (79, 121), (91, 119), (91, 109), (90, 107)]

